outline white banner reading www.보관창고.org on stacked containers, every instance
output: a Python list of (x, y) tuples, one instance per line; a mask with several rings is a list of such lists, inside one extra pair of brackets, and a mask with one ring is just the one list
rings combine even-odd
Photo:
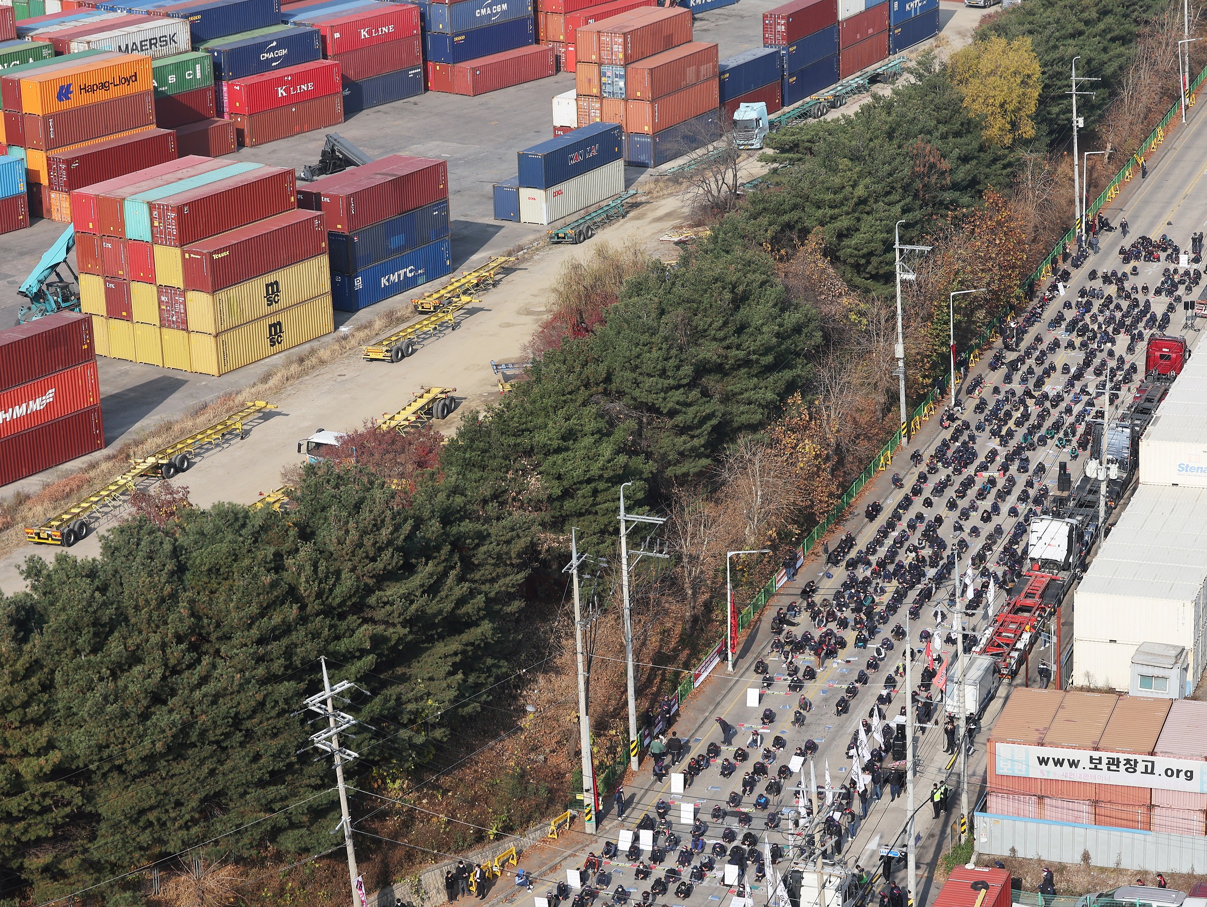
[(1194, 759), (1028, 747), (1018, 743), (996, 745), (996, 768), (997, 773), (1003, 776), (1207, 794), (1207, 762)]

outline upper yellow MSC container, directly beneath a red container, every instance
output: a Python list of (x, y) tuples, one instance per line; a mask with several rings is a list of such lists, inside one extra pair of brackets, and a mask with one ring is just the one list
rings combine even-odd
[(217, 293), (189, 289), (185, 293), (188, 330), (221, 334), (330, 292), (331, 261), (325, 254), (235, 283)]

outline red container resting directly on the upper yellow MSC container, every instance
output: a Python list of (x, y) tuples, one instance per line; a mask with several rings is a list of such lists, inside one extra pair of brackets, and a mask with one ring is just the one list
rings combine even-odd
[(327, 253), (321, 211), (286, 211), (183, 248), (185, 289), (216, 293), (287, 264)]

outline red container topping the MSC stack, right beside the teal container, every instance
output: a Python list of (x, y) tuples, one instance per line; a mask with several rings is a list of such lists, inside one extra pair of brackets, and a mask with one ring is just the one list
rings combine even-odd
[(152, 201), (151, 241), (180, 248), (297, 207), (293, 168), (262, 166)]

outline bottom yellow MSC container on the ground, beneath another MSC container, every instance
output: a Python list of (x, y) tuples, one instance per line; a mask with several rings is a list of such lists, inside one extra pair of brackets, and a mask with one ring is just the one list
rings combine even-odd
[(331, 293), (326, 293), (221, 334), (189, 332), (193, 371), (225, 375), (334, 329)]

